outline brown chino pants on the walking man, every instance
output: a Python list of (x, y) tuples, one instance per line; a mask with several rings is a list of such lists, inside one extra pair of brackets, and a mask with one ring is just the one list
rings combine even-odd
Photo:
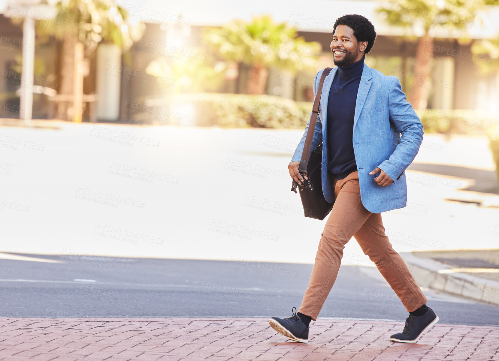
[(360, 199), (357, 171), (333, 181), (335, 202), (321, 234), (308, 288), (300, 312), (316, 321), (333, 287), (345, 244), (353, 236), (404, 304), (407, 312), (428, 300), (414, 281), (404, 260), (392, 248), (381, 220), (381, 213), (368, 211)]

